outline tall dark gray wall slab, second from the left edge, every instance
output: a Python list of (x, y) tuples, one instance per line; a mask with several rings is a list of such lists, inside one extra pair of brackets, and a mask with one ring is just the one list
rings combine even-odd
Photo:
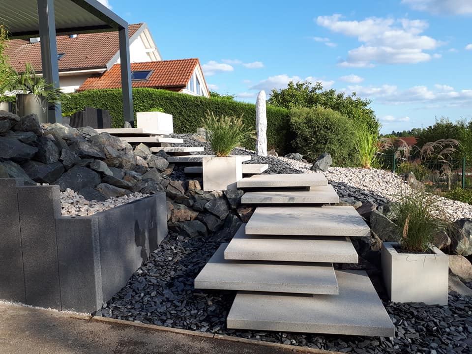
[(58, 186), (17, 188), (26, 303), (61, 308), (56, 218), (60, 216)]

